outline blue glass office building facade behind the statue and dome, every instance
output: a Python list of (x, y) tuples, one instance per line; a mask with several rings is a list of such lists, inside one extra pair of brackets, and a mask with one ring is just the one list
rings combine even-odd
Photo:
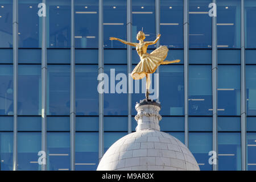
[[(201, 170), (256, 170), (254, 0), (0, 0), (0, 170), (96, 170), (135, 131), (143, 80), (123, 78), (139, 56), (109, 37), (136, 42), (142, 27), (147, 41), (162, 34), (148, 52), (164, 45), (181, 60), (152, 76), (161, 130)], [(109, 93), (98, 93), (100, 73)], [(121, 80), (133, 93), (112, 90)]]

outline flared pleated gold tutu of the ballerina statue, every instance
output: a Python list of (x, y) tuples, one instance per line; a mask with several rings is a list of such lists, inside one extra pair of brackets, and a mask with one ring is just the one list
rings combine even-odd
[(152, 51), (150, 54), (145, 53), (143, 57), (141, 57), (141, 61), (134, 68), (133, 72), (131, 72), (131, 77), (134, 80), (140, 80), (146, 76), (147, 73), (154, 73), (160, 64), (168, 64), (163, 63), (163, 60), (166, 59), (168, 48), (166, 46), (160, 46), (159, 48)]

